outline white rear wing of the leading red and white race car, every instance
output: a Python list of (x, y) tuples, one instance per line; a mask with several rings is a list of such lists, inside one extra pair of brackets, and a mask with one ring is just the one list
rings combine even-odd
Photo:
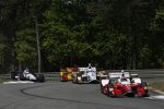
[[(114, 73), (108, 73), (109, 78), (119, 78), (121, 77), (122, 72), (114, 72)], [(124, 72), (125, 77), (130, 77), (129, 72)]]

